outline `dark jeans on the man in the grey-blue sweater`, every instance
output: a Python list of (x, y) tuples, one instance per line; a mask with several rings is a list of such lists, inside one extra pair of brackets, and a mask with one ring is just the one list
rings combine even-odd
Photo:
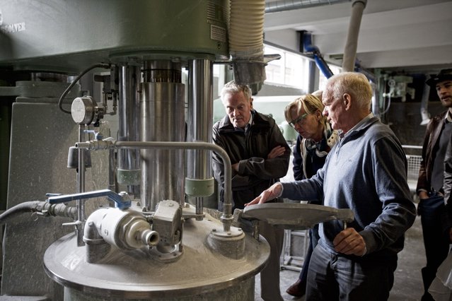
[(378, 261), (346, 257), (318, 244), (309, 264), (306, 300), (388, 300), (396, 267), (396, 257)]

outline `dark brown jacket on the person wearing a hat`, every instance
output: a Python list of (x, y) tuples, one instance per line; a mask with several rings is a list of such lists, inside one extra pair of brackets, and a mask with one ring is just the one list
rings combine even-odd
[(424, 145), (422, 146), (422, 161), (419, 168), (419, 178), (417, 179), (416, 191), (419, 194), (419, 190), (423, 189), (425, 191), (431, 190), (431, 170), (433, 169), (434, 162), (434, 148), (441, 136), (441, 130), (444, 126), (444, 118), (446, 113), (444, 111), (437, 114), (433, 119), (427, 124), (427, 130), (424, 136)]

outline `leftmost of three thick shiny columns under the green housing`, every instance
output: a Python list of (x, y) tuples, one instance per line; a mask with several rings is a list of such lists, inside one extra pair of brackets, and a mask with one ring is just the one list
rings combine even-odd
[[(141, 78), (139, 66), (120, 67), (119, 141), (137, 141), (139, 138), (138, 87)], [(127, 185), (127, 193), (139, 194), (139, 151), (119, 150), (117, 181)]]

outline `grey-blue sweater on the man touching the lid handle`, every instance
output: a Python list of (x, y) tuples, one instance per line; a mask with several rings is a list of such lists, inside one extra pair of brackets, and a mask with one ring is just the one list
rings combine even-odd
[[(282, 185), (283, 197), (319, 195), (325, 206), (352, 209), (354, 221), (348, 227), (364, 237), (366, 256), (374, 259), (396, 259), (404, 233), (415, 221), (405, 153), (377, 117), (366, 117), (341, 138), (311, 179)], [(340, 220), (321, 224), (320, 244), (336, 253), (332, 240), (343, 229)]]

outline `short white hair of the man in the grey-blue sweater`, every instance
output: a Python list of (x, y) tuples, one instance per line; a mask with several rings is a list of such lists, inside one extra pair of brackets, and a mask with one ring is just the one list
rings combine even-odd
[(345, 93), (357, 100), (361, 108), (370, 110), (372, 103), (372, 86), (363, 73), (342, 72), (328, 79), (326, 90), (332, 93), (335, 99), (342, 99)]

